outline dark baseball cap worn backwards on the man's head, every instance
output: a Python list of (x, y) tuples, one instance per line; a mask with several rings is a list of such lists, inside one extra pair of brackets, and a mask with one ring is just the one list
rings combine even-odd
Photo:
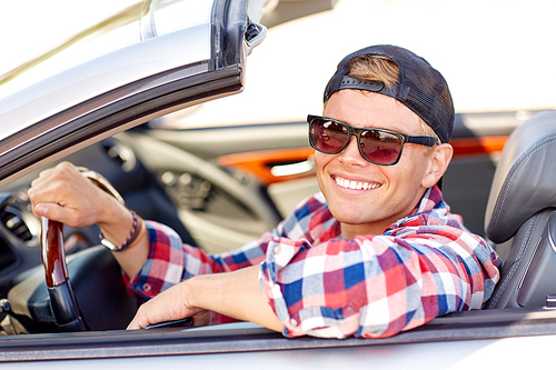
[[(371, 54), (390, 58), (399, 69), (398, 81), (387, 88), (381, 81), (348, 76), (349, 61)], [(441, 142), (448, 142), (454, 127), (454, 103), (444, 77), (425, 59), (395, 46), (374, 46), (350, 53), (338, 64), (325, 89), (325, 102), (342, 89), (366, 90), (391, 97), (419, 116), (433, 128)]]

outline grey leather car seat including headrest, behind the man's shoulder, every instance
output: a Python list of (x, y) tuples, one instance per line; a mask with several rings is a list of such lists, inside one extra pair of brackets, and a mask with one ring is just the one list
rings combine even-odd
[(513, 238), (485, 308), (543, 308), (556, 298), (556, 111), (512, 132), (490, 188), (486, 237)]

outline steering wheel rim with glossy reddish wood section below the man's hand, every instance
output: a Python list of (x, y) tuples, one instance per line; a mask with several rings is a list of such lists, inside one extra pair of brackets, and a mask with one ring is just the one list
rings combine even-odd
[[(95, 171), (79, 168), (80, 172), (89, 178), (102, 190), (112, 194), (123, 203), (121, 196), (103, 177)], [(42, 264), (50, 297), (52, 313), (58, 328), (62, 331), (85, 331), (87, 326), (81, 318), (79, 307), (71, 288), (63, 249), (63, 224), (42, 218)]]

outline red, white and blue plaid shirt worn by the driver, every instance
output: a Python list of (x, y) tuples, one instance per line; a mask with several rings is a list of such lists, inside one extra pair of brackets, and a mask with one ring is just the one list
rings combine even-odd
[(449, 213), (437, 187), (381, 236), (354, 240), (341, 239), (321, 194), (259, 240), (218, 256), (182, 244), (165, 226), (147, 226), (149, 257), (130, 290), (150, 298), (193, 276), (260, 263), (261, 290), (286, 337), (390, 337), (480, 309), (499, 279), (498, 256)]

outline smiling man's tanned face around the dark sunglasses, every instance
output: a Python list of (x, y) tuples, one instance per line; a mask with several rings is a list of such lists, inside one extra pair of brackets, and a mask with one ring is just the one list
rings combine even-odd
[[(425, 134), (417, 114), (383, 94), (340, 90), (325, 109), (325, 117), (359, 128), (387, 129), (405, 134)], [(411, 214), (430, 183), (430, 152), (418, 144), (404, 146), (394, 166), (377, 166), (359, 153), (357, 138), (338, 154), (315, 153), (317, 179), (332, 216), (342, 223), (344, 238), (380, 234), (393, 222)], [(367, 183), (351, 189), (355, 181)]]

